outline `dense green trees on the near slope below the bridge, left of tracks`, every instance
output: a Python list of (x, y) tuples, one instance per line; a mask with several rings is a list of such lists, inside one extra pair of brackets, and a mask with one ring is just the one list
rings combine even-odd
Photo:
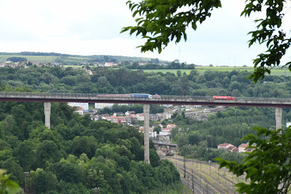
[[(24, 89), (24, 91), (27, 91)], [(43, 103), (0, 102), (0, 168), (30, 193), (151, 193), (180, 187), (173, 163), (160, 160), (136, 128), (79, 116), (66, 103), (51, 104), (51, 129)]]

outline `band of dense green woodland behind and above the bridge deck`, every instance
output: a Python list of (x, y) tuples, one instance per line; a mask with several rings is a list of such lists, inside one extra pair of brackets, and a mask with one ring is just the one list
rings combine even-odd
[(75, 93), (158, 93), (188, 96), (246, 96), (289, 98), (290, 77), (266, 76), (268, 83), (253, 83), (246, 71), (192, 70), (180, 73), (143, 73), (127, 68), (91, 68), (90, 76), (82, 69), (52, 67), (0, 68), (0, 80), (6, 90), (24, 86), (35, 91)]

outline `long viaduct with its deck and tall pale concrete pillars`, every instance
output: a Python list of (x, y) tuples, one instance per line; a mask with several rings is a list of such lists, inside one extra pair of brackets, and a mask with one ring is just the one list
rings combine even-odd
[(153, 96), (153, 98), (131, 98), (130, 94), (92, 93), (34, 93), (0, 92), (0, 101), (44, 102), (45, 126), (50, 128), (51, 102), (81, 103), (138, 103), (143, 104), (144, 161), (149, 157), (149, 115), (150, 104), (202, 105), (202, 106), (253, 106), (275, 108), (276, 129), (282, 128), (282, 108), (291, 108), (291, 98), (238, 98), (233, 100), (213, 99), (213, 96)]

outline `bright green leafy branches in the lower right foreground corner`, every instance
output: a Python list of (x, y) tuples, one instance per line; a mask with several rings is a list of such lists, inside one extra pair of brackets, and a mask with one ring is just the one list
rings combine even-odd
[(250, 183), (238, 183), (239, 193), (287, 193), (291, 184), (291, 128), (282, 135), (281, 130), (270, 131), (267, 128), (255, 128), (257, 135), (249, 134), (251, 153), (238, 164), (233, 161), (216, 158), (220, 168), (229, 168), (235, 175), (246, 173)]

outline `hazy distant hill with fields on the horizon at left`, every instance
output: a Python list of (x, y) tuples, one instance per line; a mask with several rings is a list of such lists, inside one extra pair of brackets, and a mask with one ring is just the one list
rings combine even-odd
[[(5, 53), (0, 52), (0, 61), (6, 61), (7, 58), (11, 56), (25, 57), (27, 61), (34, 63), (90, 63), (93, 61), (106, 61), (106, 62), (150, 62), (155, 61), (155, 58), (143, 58), (143, 57), (133, 57), (133, 56), (110, 56), (110, 55), (91, 55), (91, 56), (81, 56), (81, 55), (70, 55), (64, 53), (42, 53), (42, 52), (21, 52), (21, 53)], [(160, 61), (167, 63), (168, 61)]]

